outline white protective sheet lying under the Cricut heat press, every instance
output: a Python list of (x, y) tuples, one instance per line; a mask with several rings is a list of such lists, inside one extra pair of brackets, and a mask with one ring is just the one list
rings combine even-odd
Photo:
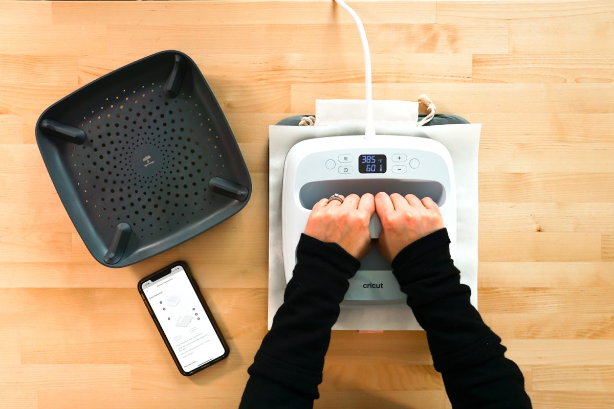
[[(342, 104), (342, 100), (336, 100)], [(374, 101), (378, 102), (379, 101)], [(392, 102), (392, 101), (390, 101)], [(415, 103), (412, 103), (415, 104)], [(317, 101), (316, 118), (322, 115), (322, 101)], [(330, 105), (329, 105), (330, 106)], [(348, 104), (352, 111), (356, 105)], [(376, 105), (377, 106), (377, 105)], [(461, 270), (461, 281), (472, 291), (471, 302), (477, 307), (478, 290), (478, 145), (481, 124), (454, 124), (437, 126), (391, 126), (394, 121), (413, 121), (416, 110), (410, 110), (406, 118), (384, 118), (376, 115), (376, 133), (380, 135), (405, 135), (429, 137), (448, 148), (454, 163), (457, 192), (457, 250), (454, 264)], [(362, 111), (362, 109), (361, 109)], [(348, 112), (348, 111), (345, 111)], [(381, 111), (380, 111), (381, 112)], [(391, 115), (398, 115), (391, 111)], [(404, 112), (408, 112), (404, 110)], [(336, 109), (335, 115), (343, 117), (344, 109)], [(327, 118), (328, 123), (335, 123)], [(317, 123), (317, 121), (316, 121)], [(282, 304), (286, 280), (282, 255), (281, 192), (284, 161), (290, 148), (304, 139), (317, 137), (358, 135), (364, 132), (364, 124), (338, 124), (324, 126), (270, 126), (269, 127), (269, 291), (268, 328), (273, 316)], [(346, 330), (419, 330), (421, 329), (409, 307), (351, 307), (341, 308), (333, 329)]]

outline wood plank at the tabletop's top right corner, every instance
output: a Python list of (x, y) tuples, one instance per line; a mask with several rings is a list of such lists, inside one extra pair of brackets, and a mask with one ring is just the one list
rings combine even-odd
[(438, 1), (437, 22), (595, 23), (613, 20), (611, 6), (608, 0)]

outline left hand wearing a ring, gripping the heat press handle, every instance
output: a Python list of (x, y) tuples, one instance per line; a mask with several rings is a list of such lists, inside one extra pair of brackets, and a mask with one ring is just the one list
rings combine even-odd
[(360, 260), (371, 250), (369, 221), (373, 213), (375, 201), (370, 193), (362, 197), (350, 194), (343, 204), (322, 199), (311, 210), (305, 234), (322, 242), (337, 243)]

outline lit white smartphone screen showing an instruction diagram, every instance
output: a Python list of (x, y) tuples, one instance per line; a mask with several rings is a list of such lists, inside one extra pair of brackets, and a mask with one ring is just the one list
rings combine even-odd
[(142, 291), (185, 372), (224, 354), (224, 346), (182, 266), (174, 266), (155, 281), (145, 281)]

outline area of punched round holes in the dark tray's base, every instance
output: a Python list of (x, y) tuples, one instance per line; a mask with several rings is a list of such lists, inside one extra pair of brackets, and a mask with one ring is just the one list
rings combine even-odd
[(90, 216), (112, 232), (129, 223), (141, 245), (198, 220), (216, 201), (211, 177), (224, 177), (221, 141), (196, 98), (168, 98), (163, 83), (109, 91), (87, 107), (72, 146), (72, 172)]

